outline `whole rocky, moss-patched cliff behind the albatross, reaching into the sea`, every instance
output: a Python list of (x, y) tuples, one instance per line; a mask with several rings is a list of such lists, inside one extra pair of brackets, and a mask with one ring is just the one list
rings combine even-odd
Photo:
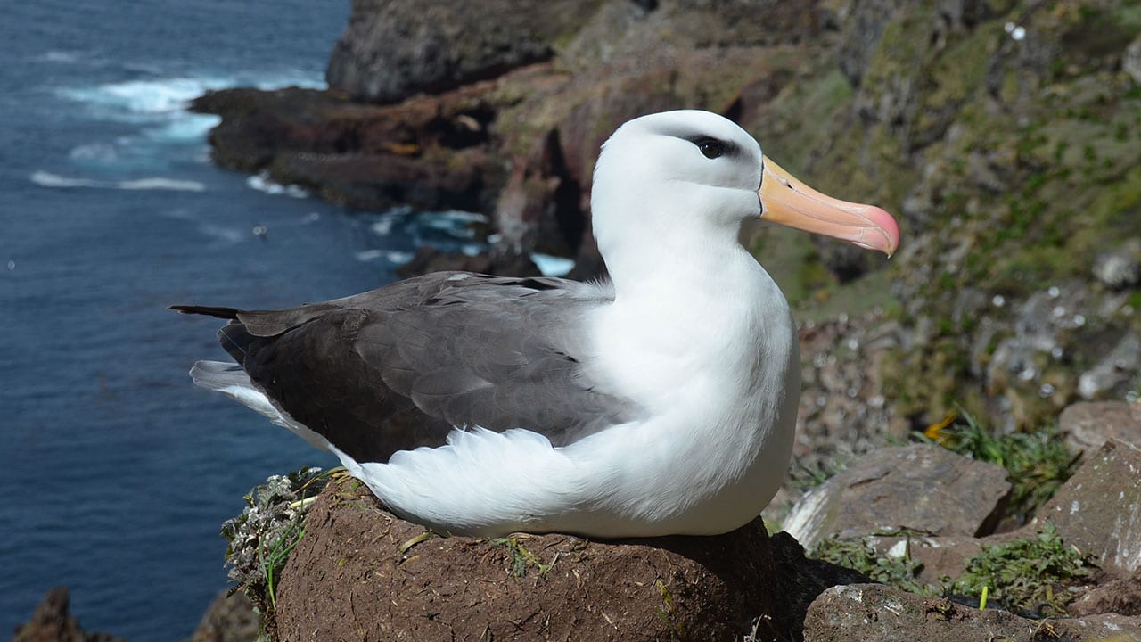
[(461, 5), (355, 2), (329, 93), (199, 102), (226, 117), (216, 158), (351, 207), (482, 210), (495, 255), (575, 256), (586, 276), (605, 137), (718, 111), (815, 186), (901, 219), (890, 262), (754, 238), (812, 322), (809, 464), (831, 456), (822, 440), (859, 450), (956, 404), (1014, 430), (1141, 388), (1135, 3)]

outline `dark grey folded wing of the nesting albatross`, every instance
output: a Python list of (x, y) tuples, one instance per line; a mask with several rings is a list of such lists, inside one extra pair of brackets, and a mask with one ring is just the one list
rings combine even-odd
[(200, 311), (233, 318), (219, 339), (276, 406), (358, 462), (387, 462), (455, 427), (566, 446), (638, 417), (583, 368), (584, 318), (612, 297), (559, 279), (436, 273), (290, 310)]

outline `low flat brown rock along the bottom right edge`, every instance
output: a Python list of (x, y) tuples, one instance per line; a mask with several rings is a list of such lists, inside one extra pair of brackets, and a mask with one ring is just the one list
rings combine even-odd
[(1045, 642), (1138, 640), (1141, 618), (1119, 615), (1030, 620), (980, 611), (944, 597), (904, 593), (879, 584), (836, 586), (820, 594), (804, 619), (804, 642)]

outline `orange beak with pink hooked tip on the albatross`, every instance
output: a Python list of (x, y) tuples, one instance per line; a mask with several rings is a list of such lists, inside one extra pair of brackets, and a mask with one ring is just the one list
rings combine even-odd
[(887, 211), (833, 199), (801, 183), (764, 157), (761, 220), (824, 234), (891, 256), (899, 247), (899, 225)]

